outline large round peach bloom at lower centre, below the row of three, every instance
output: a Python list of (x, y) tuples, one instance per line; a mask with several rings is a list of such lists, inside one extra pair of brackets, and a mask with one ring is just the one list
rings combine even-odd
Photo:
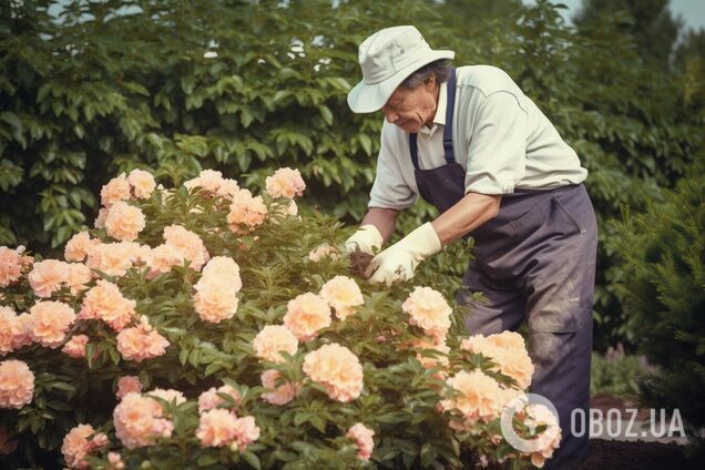
[(334, 400), (347, 402), (362, 392), (362, 366), (358, 357), (336, 343), (307, 354), (304, 372), (320, 384)]

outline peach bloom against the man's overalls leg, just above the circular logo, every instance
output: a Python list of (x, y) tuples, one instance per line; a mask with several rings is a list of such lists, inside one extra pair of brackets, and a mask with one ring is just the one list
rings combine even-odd
[(531, 385), (534, 367), (520, 334), (502, 331), (488, 337), (474, 335), (463, 339), (460, 347), (491, 359), (497, 365), (493, 370), (513, 378), (519, 388), (525, 389)]

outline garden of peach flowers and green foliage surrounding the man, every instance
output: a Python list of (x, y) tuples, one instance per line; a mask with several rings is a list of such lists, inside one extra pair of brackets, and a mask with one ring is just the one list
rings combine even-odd
[[(581, 468), (699, 468), (705, 33), (676, 42), (667, 1), (597, 3), (575, 25), (549, 1), (0, 7), (0, 466), (550, 462), (564, 430), (527, 402), (523, 329), (474, 335), (454, 302), (472, 239), (391, 287), (345, 244), (381, 127), (346, 104), (357, 47), (416, 24), (504, 69), (590, 172), (592, 407), (684, 436), (593, 439)], [(657, 50), (640, 21), (668, 18)], [(397, 239), (436, 215), (417, 203)]]

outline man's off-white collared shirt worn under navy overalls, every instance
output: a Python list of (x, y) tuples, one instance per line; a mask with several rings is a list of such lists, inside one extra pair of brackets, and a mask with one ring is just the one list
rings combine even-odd
[[(417, 137), (419, 166), (446, 164), (443, 127), (447, 84), (440, 86), (433, 126)], [(466, 170), (466, 194), (507, 194), (581, 183), (588, 170), (545, 115), (502, 70), (490, 65), (457, 69), (453, 153)], [(403, 210), (419, 194), (409, 134), (385, 121), (369, 207)]]

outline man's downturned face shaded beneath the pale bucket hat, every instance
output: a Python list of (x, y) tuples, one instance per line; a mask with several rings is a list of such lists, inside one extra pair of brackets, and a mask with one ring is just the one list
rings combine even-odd
[(419, 132), (433, 122), (438, 106), (438, 86), (431, 76), (415, 89), (398, 88), (381, 111), (385, 119), (406, 132)]

